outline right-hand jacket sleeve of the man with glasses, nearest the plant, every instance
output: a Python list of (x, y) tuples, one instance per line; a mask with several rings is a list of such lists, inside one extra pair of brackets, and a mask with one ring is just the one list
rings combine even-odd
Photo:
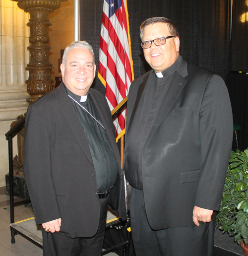
[(219, 210), (233, 140), (232, 109), (227, 87), (213, 75), (200, 110), (201, 177), (195, 205)]

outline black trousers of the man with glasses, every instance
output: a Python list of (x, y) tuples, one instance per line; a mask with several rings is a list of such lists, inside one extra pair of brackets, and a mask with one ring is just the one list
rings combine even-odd
[(147, 220), (143, 191), (132, 188), (130, 217), (136, 256), (213, 256), (215, 212), (210, 223), (200, 222), (199, 227), (153, 230)]

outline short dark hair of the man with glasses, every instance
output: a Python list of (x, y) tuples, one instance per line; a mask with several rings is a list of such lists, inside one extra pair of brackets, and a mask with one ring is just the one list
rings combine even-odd
[(179, 31), (177, 26), (174, 24), (174, 22), (170, 19), (164, 18), (164, 17), (152, 17), (149, 19), (146, 19), (140, 26), (140, 39), (142, 41), (144, 29), (146, 26), (154, 24), (154, 23), (166, 23), (168, 25), (169, 31), (172, 36), (178, 36), (179, 37)]

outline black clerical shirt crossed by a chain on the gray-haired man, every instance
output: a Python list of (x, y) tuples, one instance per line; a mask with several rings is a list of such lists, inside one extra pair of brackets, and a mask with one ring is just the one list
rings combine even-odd
[[(65, 87), (66, 88), (66, 87)], [(66, 88), (67, 93), (80, 105), (86, 108), (102, 125), (103, 122), (97, 108), (90, 96), (87, 95), (85, 102), (80, 102), (81, 96), (72, 93)], [(94, 168), (96, 171), (97, 190), (105, 191), (111, 189), (117, 178), (118, 165), (110, 144), (108, 134), (85, 110), (71, 100), (79, 120), (84, 129), (85, 136), (90, 148)], [(82, 166), (83, 170), (83, 166)]]

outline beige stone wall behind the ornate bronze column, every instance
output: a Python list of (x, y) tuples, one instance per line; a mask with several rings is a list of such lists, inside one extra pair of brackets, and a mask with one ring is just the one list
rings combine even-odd
[[(16, 117), (24, 114), (28, 107), (26, 98), (25, 71), (29, 63), (29, 14), (17, 6), (17, 2), (0, 0), (0, 187), (5, 186), (8, 173), (8, 143), (5, 133)], [(52, 26), (49, 28), (50, 63), (54, 65), (52, 79), (61, 76), (59, 59), (61, 49), (73, 41), (74, 1), (67, 0), (61, 7), (49, 14)], [(16, 137), (14, 138), (13, 156), (17, 154)]]

